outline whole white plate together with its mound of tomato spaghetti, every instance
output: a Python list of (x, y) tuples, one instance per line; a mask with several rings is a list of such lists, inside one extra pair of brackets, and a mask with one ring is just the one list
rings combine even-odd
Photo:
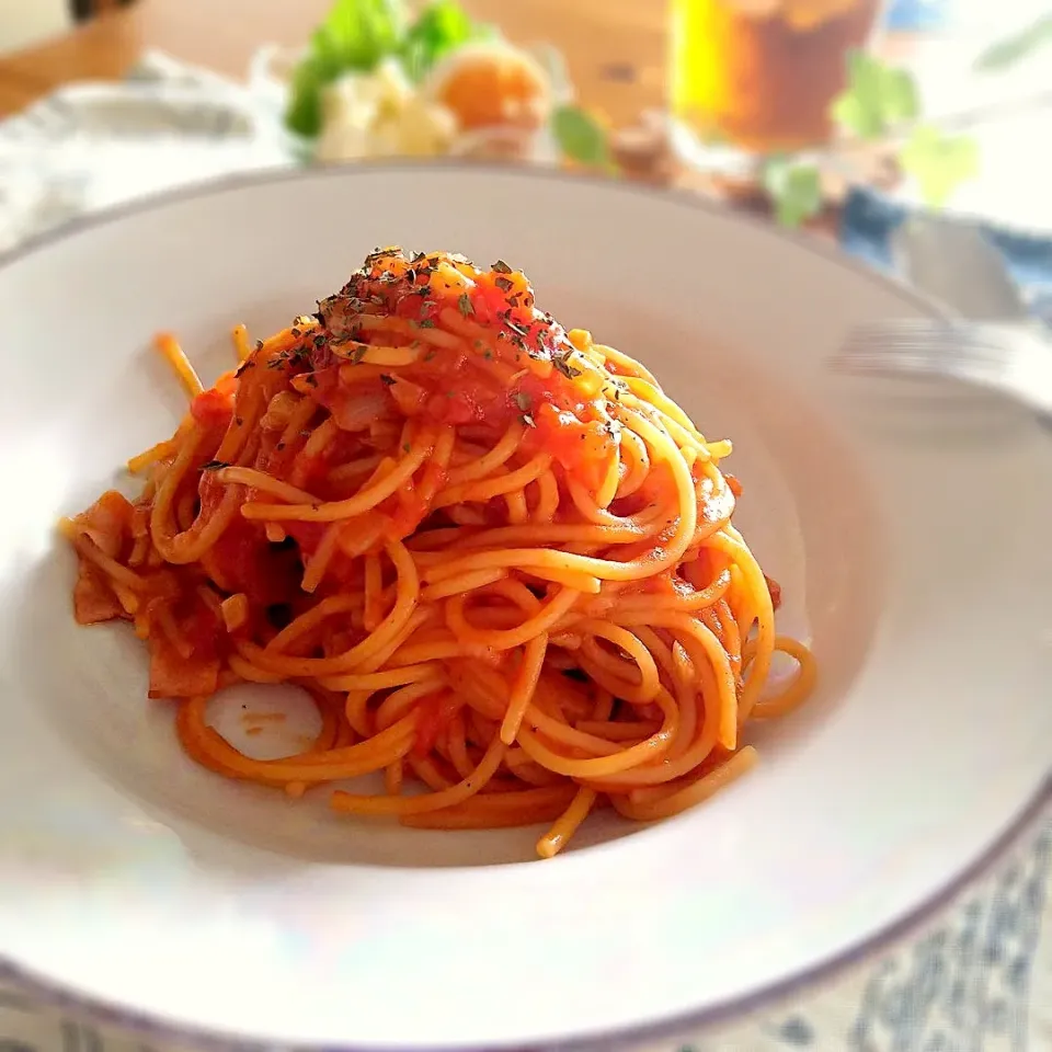
[(922, 924), (1052, 742), (1047, 435), (826, 365), (938, 310), (445, 164), (9, 258), (3, 967), (153, 1040), (672, 1050)]

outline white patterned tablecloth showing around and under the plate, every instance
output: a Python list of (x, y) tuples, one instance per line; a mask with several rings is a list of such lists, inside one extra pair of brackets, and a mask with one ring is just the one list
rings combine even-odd
[[(126, 84), (75, 85), (0, 125), (0, 251), (133, 197), (295, 163), (279, 100), (150, 55)], [(922, 930), (816, 988), (631, 1052), (1052, 1050), (1052, 820)], [(0, 1052), (199, 1052), (56, 1003), (0, 969)]]

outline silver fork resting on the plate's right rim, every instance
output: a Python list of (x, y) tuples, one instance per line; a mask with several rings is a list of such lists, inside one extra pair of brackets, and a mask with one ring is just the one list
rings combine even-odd
[(949, 378), (1052, 415), (1052, 343), (1025, 325), (874, 322), (848, 335), (832, 366), (858, 376)]

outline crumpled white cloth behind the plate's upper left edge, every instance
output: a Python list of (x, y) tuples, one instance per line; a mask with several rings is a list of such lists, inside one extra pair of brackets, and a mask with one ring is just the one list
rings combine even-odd
[(294, 164), (279, 106), (259, 78), (158, 53), (123, 83), (60, 88), (0, 124), (0, 251), (135, 197)]

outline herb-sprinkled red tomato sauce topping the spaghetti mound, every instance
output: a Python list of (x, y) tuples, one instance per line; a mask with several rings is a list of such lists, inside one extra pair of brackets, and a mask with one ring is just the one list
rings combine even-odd
[[(494, 437), (519, 420), (527, 451), (550, 453), (592, 489), (606, 478), (617, 447), (617, 425), (605, 408), (614, 388), (602, 386), (611, 370), (580, 355), (570, 364), (578, 348), (550, 315), (535, 309), (528, 282), (506, 264), (484, 272), (457, 258), (377, 252), (320, 308), (324, 334), (310, 336), (312, 377), (301, 389), (338, 423), (353, 412), (347, 407), (384, 390), (396, 419), (481, 426)], [(393, 324), (373, 321), (385, 317)], [(427, 329), (458, 340), (435, 343)], [(333, 358), (353, 367), (369, 346), (422, 353), (411, 365), (342, 384)], [(584, 370), (592, 376), (582, 385)], [(596, 387), (601, 393), (590, 395)]]

